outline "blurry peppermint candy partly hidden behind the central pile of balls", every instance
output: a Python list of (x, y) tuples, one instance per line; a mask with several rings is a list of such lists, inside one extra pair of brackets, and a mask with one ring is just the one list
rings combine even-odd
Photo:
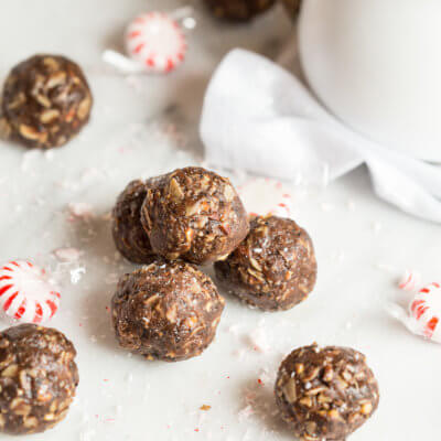
[(250, 215), (292, 217), (293, 198), (287, 187), (269, 178), (251, 179), (237, 189)]

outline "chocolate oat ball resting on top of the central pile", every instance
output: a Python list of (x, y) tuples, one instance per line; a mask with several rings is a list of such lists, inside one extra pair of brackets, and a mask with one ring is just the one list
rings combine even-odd
[(141, 220), (155, 252), (197, 265), (228, 256), (249, 229), (229, 180), (196, 166), (153, 180)]

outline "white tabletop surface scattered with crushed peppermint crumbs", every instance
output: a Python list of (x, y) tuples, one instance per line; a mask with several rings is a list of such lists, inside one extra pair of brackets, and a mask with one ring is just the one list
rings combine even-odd
[[(100, 63), (105, 47), (118, 47), (131, 17), (178, 4), (1, 2), (0, 77), (35, 52), (62, 52), (85, 66), (96, 98), (90, 125), (63, 149), (43, 154), (0, 144), (0, 260), (31, 258), (56, 269), (51, 252), (73, 246), (84, 252), (86, 269), (73, 284), (69, 270), (78, 263), (58, 267), (62, 309), (52, 322), (78, 349), (77, 400), (56, 429), (29, 439), (290, 440), (273, 415), (272, 377), (283, 354), (312, 341), (365, 352), (377, 374), (379, 410), (354, 441), (437, 439), (441, 347), (409, 334), (384, 306), (404, 299), (396, 282), (407, 268), (440, 280), (440, 227), (376, 200), (364, 170), (324, 190), (292, 190), (294, 217), (313, 237), (320, 266), (316, 289), (303, 304), (269, 314), (228, 298), (215, 343), (185, 363), (147, 363), (116, 346), (106, 306), (115, 277), (132, 268), (115, 259), (106, 214), (116, 195), (132, 178), (197, 163), (197, 120), (215, 65), (234, 46), (275, 57), (291, 30), (281, 10), (249, 26), (219, 25), (201, 10), (187, 63), (175, 74), (127, 79)], [(66, 207), (75, 202), (89, 203), (95, 217), (69, 220)], [(263, 353), (249, 341), (256, 329), (270, 346)], [(247, 397), (255, 413), (245, 418)], [(211, 410), (201, 411), (203, 405)]]

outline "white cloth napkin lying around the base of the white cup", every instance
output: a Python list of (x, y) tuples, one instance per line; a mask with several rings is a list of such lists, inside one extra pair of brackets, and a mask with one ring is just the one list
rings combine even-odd
[(365, 163), (379, 197), (441, 222), (441, 168), (354, 132), (298, 78), (248, 51), (234, 50), (215, 72), (201, 137), (212, 165), (294, 182), (334, 180)]

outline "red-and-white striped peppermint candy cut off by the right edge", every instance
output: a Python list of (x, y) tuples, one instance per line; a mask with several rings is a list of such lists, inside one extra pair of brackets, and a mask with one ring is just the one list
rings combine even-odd
[(419, 290), (410, 303), (410, 313), (418, 323), (420, 333), (441, 343), (441, 284), (433, 282)]

